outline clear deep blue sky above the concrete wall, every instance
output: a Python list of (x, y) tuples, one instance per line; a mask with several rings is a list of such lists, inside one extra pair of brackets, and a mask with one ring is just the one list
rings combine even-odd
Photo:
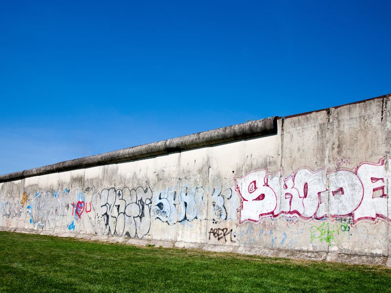
[(0, 174), (391, 93), (390, 11), (1, 1)]

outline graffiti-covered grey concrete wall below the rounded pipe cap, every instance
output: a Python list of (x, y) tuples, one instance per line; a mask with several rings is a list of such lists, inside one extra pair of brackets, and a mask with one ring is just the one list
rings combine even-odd
[(390, 104), (383, 96), (279, 118), (276, 134), (21, 176), (0, 183), (0, 226), (391, 265)]

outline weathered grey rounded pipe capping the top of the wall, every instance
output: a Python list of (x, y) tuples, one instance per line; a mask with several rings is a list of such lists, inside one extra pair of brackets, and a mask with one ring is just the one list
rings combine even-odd
[(245, 138), (275, 134), (277, 133), (277, 119), (279, 118), (280, 117), (278, 116), (264, 118), (233, 126), (198, 132), (191, 135), (180, 136), (151, 144), (128, 147), (99, 155), (4, 174), (0, 175), (0, 183), (20, 180), (32, 176), (126, 162), (200, 146), (211, 146)]

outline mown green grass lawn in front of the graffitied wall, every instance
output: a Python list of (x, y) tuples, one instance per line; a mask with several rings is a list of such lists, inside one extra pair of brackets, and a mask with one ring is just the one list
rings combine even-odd
[(391, 292), (391, 270), (0, 232), (0, 292)]

